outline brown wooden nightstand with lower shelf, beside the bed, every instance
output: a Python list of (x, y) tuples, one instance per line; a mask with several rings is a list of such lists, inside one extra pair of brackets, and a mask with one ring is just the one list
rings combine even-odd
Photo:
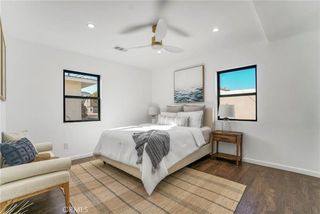
[[(242, 160), (242, 132), (222, 132), (222, 131), (212, 131), (211, 137), (211, 159), (213, 157), (221, 157), (228, 160), (236, 160), (236, 165), (239, 164), (239, 160)], [(216, 141), (216, 152), (214, 151), (214, 142)], [(227, 143), (235, 143), (236, 144), (236, 155), (225, 154), (218, 152), (219, 149), (219, 141), (227, 142)], [(240, 146), (240, 156), (239, 156), (239, 146)]]

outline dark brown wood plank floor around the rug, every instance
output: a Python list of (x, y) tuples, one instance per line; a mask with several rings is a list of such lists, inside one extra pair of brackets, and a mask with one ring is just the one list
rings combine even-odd
[[(93, 159), (73, 160), (72, 165)], [(234, 161), (209, 157), (188, 167), (246, 185), (235, 213), (320, 213), (320, 178), (245, 162), (236, 166)], [(26, 213), (64, 213), (59, 189), (27, 200), (33, 204)]]

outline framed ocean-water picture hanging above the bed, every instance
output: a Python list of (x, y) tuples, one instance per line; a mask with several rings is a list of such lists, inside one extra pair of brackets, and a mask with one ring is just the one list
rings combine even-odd
[(203, 67), (174, 71), (174, 103), (204, 101)]

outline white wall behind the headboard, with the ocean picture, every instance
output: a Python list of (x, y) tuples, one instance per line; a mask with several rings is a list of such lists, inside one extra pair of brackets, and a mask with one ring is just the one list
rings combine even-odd
[[(320, 177), (319, 58), (319, 31), (212, 50), (209, 56), (153, 71), (152, 103), (162, 110), (178, 105), (173, 103), (173, 71), (204, 65), (204, 104), (217, 110), (216, 71), (256, 64), (257, 122), (231, 123), (232, 130), (244, 133), (243, 161)], [(219, 148), (235, 152), (232, 144)]]

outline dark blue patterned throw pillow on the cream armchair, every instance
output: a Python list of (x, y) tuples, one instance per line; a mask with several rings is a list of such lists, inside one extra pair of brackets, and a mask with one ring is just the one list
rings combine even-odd
[(32, 143), (25, 137), (15, 143), (0, 143), (0, 150), (9, 166), (28, 163), (37, 154)]

